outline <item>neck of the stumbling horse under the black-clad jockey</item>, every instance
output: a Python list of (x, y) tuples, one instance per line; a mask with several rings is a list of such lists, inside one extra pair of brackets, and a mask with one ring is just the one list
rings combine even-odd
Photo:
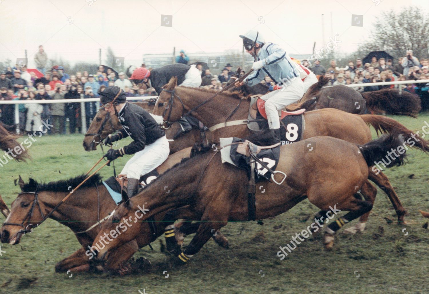
[[(106, 204), (109, 203), (106, 197), (104, 185), (98, 185), (100, 195), (100, 219), (108, 214)], [(43, 192), (39, 194), (39, 201), (45, 207), (45, 215), (69, 192)], [(63, 223), (73, 231), (85, 230), (92, 226), (92, 221), (97, 220), (98, 198), (95, 187), (80, 188), (74, 192), (63, 204), (61, 204), (50, 216), (51, 219)], [(112, 208), (113, 209), (113, 208)]]

